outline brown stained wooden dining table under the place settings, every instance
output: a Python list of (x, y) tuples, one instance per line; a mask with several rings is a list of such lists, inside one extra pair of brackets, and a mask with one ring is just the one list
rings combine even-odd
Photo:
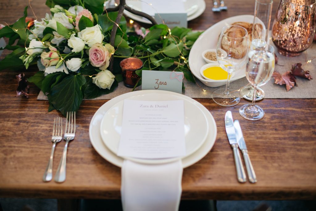
[[(13, 23), (22, 16), (27, 1), (2, 0), (0, 21)], [(49, 9), (33, 0), (38, 18)], [(204, 14), (189, 22), (194, 29), (207, 29), (227, 17), (253, 14), (254, 3), (227, 1), (228, 11), (211, 12), (207, 0)], [(278, 1), (274, 2), (273, 16)], [(32, 14), (31, 12), (29, 14)], [(33, 71), (26, 71), (27, 77)], [(0, 72), (0, 197), (120, 198), (120, 168), (103, 159), (92, 147), (88, 127), (96, 110), (107, 100), (83, 101), (77, 113), (76, 138), (68, 148), (67, 180), (42, 182), (51, 150), (51, 126), (58, 112), (47, 113), (48, 102), (38, 101), (31, 84), (30, 98), (15, 97), (15, 72)], [(314, 76), (315, 77), (315, 76)], [(315, 80), (315, 79), (314, 79)], [(316, 96), (315, 96), (316, 97)], [(199, 162), (184, 169), (183, 199), (264, 200), (315, 199), (316, 196), (316, 99), (264, 99), (258, 104), (266, 115), (260, 121), (242, 118), (234, 107), (218, 106), (211, 99), (196, 99), (214, 116), (217, 138), (212, 150)], [(258, 183), (237, 182), (234, 158), (224, 127), (231, 110), (240, 121)], [(55, 173), (64, 147), (55, 151)]]

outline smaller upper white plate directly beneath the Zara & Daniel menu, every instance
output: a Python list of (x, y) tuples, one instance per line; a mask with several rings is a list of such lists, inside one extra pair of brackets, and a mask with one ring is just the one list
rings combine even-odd
[[(168, 101), (168, 100), (183, 100), (184, 101), (184, 131), (185, 131), (185, 156), (191, 155), (193, 152), (197, 151), (198, 148), (204, 143), (208, 133), (209, 125), (202, 108), (202, 104), (193, 100), (192, 98), (183, 97), (185, 95), (176, 96), (173, 92), (170, 93), (140, 93), (139, 95), (131, 96), (127, 99), (129, 100), (139, 100), (139, 101)], [(101, 138), (106, 145), (106, 147), (111, 150), (114, 154), (118, 153), (119, 142), (121, 138), (122, 131), (122, 121), (123, 121), (123, 105), (124, 100), (119, 101), (113, 105), (104, 115), (101, 126), (100, 133)], [(124, 157), (125, 158), (125, 157)], [(146, 164), (160, 164), (168, 163), (179, 159), (179, 157), (174, 158), (163, 158), (163, 159), (140, 159), (140, 158), (125, 158), (130, 159), (139, 163)]]

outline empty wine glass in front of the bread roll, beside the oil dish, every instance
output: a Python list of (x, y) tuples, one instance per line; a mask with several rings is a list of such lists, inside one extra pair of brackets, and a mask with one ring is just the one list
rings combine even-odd
[[(224, 53), (225, 51), (227, 56)], [(229, 90), (229, 81), (234, 71), (246, 64), (248, 53), (248, 33), (240, 26), (225, 26), (217, 41), (216, 58), (223, 70), (228, 72), (226, 88), (215, 90), (214, 102), (222, 106), (234, 106), (240, 102), (238, 92)]]

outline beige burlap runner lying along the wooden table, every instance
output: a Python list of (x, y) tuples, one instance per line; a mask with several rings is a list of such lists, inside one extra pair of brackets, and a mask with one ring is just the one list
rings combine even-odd
[[(284, 72), (291, 70), (292, 64), (300, 62), (303, 65), (302, 68), (305, 71), (310, 71), (310, 74), (314, 79), (308, 80), (305, 78), (296, 77), (296, 83), (298, 86), (295, 86), (291, 90), (287, 91), (285, 85), (280, 86), (278, 84), (274, 84), (274, 79), (271, 78), (267, 84), (261, 87), (265, 92), (265, 98), (316, 98), (316, 59), (313, 59), (313, 57), (316, 56), (316, 43), (314, 42), (313, 45), (300, 56), (285, 57), (279, 53), (277, 53), (277, 56), (278, 65), (275, 66), (276, 71), (283, 74)], [(311, 62), (307, 63), (308, 60), (311, 60)], [(212, 88), (205, 86), (198, 79), (196, 79), (196, 82), (197, 83), (194, 84), (184, 79), (185, 92), (183, 94), (191, 98), (211, 98), (212, 92), (218, 89), (218, 87)], [(238, 90), (247, 84), (248, 81), (245, 77), (232, 82), (230, 84), (230, 88)], [(141, 87), (137, 87), (136, 90), (141, 90)], [(125, 94), (130, 91), (130, 88), (125, 87), (123, 82), (120, 82), (119, 86), (116, 88), (116, 90), (114, 90), (114, 92), (94, 98), (93, 100), (112, 99), (113, 97)], [(40, 91), (37, 99), (47, 100), (47, 96), (45, 96), (44, 93)]]

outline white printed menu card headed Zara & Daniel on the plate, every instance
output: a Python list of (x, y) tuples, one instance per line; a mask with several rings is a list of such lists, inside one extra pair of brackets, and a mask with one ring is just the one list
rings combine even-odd
[(184, 155), (183, 100), (124, 100), (118, 156), (158, 159)]

